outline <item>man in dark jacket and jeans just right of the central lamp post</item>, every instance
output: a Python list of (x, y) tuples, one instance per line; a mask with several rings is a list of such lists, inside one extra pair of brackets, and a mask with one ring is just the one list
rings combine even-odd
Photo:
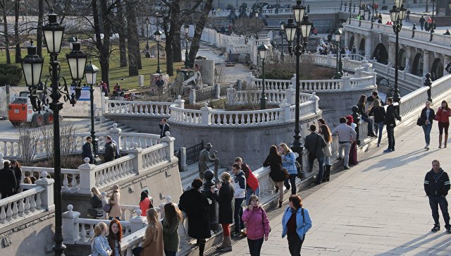
[[(310, 126), (311, 133), (305, 137), (305, 145), (304, 147), (309, 150), (309, 156), (312, 155), (318, 159), (319, 164), (319, 172), (316, 176), (316, 183), (321, 184), (323, 181), (323, 164), (324, 164), (324, 150), (323, 147), (326, 147), (326, 141), (324, 141), (323, 136), (316, 133), (316, 126), (312, 124)], [(309, 168), (313, 169), (313, 160), (315, 158), (309, 157)]]

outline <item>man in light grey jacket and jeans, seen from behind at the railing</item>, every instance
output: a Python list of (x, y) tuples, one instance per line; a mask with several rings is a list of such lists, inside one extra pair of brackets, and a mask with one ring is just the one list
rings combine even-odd
[(332, 130), (332, 135), (338, 135), (338, 159), (343, 158), (343, 150), (345, 150), (343, 165), (345, 169), (350, 169), (350, 150), (352, 142), (357, 138), (357, 133), (347, 125), (345, 117), (340, 117), (340, 125)]

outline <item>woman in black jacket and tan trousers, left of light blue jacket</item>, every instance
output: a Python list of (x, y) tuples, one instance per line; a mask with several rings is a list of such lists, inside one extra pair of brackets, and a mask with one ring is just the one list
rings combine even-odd
[(285, 181), (285, 173), (282, 171), (282, 157), (278, 153), (277, 147), (272, 145), (269, 148), (268, 157), (263, 162), (263, 166), (270, 166), (271, 172), (269, 176), (276, 183), (276, 193), (279, 193), (279, 208), (283, 202), (283, 181)]

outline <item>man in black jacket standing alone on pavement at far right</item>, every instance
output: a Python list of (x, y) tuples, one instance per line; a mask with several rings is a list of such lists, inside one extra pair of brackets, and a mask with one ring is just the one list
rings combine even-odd
[(429, 205), (432, 210), (432, 218), (434, 219), (433, 232), (440, 230), (440, 222), (438, 222), (438, 206), (442, 211), (443, 220), (445, 221), (445, 229), (447, 233), (451, 233), (450, 214), (448, 213), (448, 202), (446, 195), (450, 190), (450, 177), (440, 168), (440, 161), (432, 161), (432, 169), (426, 173), (424, 177), (424, 191), (429, 197)]

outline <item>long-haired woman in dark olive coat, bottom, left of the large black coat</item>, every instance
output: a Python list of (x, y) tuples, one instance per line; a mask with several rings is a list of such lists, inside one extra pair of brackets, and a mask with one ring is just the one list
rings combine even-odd
[(164, 205), (164, 218), (161, 224), (163, 225), (163, 248), (166, 256), (175, 256), (177, 254), (178, 245), (180, 244), (178, 225), (182, 219), (182, 212), (180, 209), (175, 208), (172, 202)]

